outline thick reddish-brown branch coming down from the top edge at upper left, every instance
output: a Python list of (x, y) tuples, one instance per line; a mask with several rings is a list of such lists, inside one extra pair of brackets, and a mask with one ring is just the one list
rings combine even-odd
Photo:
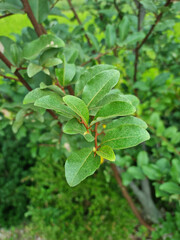
[(44, 29), (44, 27), (39, 24), (33, 14), (33, 11), (29, 5), (28, 0), (21, 0), (23, 6), (24, 6), (24, 11), (27, 13), (32, 25), (34, 26), (34, 29), (37, 33), (37, 35), (40, 37), (42, 34), (46, 33), (46, 30)]

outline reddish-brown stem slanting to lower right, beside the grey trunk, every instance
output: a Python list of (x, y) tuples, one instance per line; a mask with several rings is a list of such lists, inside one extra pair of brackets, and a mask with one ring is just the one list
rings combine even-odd
[(142, 225), (144, 225), (148, 230), (153, 231), (154, 229), (153, 229), (150, 225), (148, 225), (148, 224), (144, 221), (144, 219), (141, 217), (141, 215), (140, 215), (140, 213), (138, 212), (138, 210), (137, 210), (137, 208), (136, 208), (136, 206), (135, 206), (135, 204), (134, 204), (131, 196), (129, 195), (126, 187), (123, 186), (122, 180), (121, 180), (121, 177), (120, 177), (120, 175), (119, 175), (119, 172), (118, 172), (118, 169), (117, 169), (116, 165), (112, 163), (112, 164), (111, 164), (111, 168), (112, 168), (112, 170), (113, 170), (113, 173), (114, 173), (114, 176), (115, 176), (115, 178), (116, 178), (116, 181), (117, 181), (117, 183), (118, 183), (118, 185), (119, 185), (119, 187), (120, 187), (120, 189), (121, 189), (121, 192), (122, 192), (123, 196), (125, 197), (125, 199), (127, 200), (129, 206), (131, 207), (134, 215), (137, 217), (137, 219), (139, 220), (139, 222), (140, 222)]

